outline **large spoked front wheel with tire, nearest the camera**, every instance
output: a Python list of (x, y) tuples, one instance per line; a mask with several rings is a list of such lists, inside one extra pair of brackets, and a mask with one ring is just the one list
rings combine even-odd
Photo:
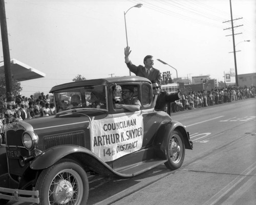
[(89, 195), (86, 172), (76, 162), (67, 159), (43, 170), (35, 189), (39, 190), (39, 204), (42, 205), (84, 205)]

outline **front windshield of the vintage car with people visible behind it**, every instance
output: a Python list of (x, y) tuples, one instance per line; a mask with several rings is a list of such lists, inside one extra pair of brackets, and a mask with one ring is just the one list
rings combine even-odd
[(54, 93), (57, 112), (73, 109), (107, 109), (106, 86), (93, 85), (61, 90)]

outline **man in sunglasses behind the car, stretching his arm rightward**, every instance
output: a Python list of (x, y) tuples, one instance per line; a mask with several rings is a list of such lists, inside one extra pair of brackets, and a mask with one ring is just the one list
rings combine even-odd
[(168, 94), (166, 91), (160, 92), (160, 86), (157, 81), (152, 81), (153, 95), (156, 97), (155, 110), (164, 111), (168, 102), (174, 102), (179, 100), (182, 95), (187, 95), (190, 91), (190, 87), (182, 88), (178, 93)]

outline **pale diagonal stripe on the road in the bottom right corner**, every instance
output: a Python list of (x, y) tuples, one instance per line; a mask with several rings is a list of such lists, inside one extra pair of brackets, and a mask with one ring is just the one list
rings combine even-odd
[(224, 197), (228, 192), (230, 192), (234, 187), (236, 187), (242, 180), (244, 180), (255, 169), (256, 169), (256, 163), (252, 164), (247, 169), (245, 169), (239, 176), (234, 178), (227, 186), (225, 186), (217, 194), (215, 194), (208, 201), (206, 201), (204, 205), (214, 205), (215, 203), (217, 203), (222, 197)]

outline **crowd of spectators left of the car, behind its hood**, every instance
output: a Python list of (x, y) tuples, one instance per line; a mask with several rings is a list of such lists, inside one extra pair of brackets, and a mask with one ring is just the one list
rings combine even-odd
[(0, 143), (5, 144), (5, 131), (10, 123), (51, 115), (55, 115), (54, 103), (44, 93), (37, 99), (33, 95), (28, 98), (19, 93), (13, 102), (7, 102), (0, 96)]

